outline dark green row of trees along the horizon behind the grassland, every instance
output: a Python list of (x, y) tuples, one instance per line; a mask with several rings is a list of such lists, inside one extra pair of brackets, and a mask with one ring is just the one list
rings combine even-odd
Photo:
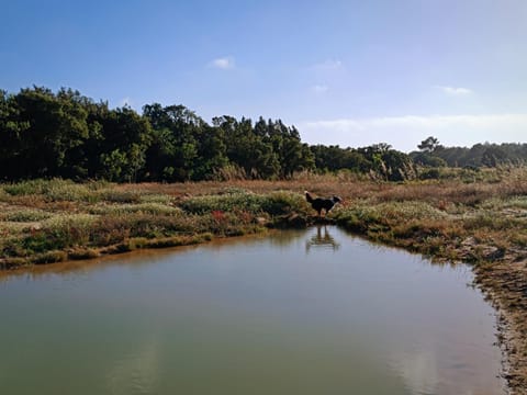
[(280, 120), (220, 116), (206, 123), (183, 105), (110, 109), (71, 89), (0, 90), (0, 179), (110, 181), (287, 179), (337, 171), (402, 180), (421, 166), (496, 166), (527, 158), (526, 145), (445, 148), (434, 137), (410, 155), (386, 144), (309, 146)]

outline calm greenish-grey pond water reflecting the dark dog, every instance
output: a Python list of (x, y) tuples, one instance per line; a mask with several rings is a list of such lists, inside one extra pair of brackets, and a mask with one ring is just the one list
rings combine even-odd
[(335, 227), (0, 278), (0, 394), (503, 394), (466, 266)]

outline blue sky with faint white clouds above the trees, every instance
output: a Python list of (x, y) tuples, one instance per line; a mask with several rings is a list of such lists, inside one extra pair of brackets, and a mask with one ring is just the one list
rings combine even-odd
[(310, 144), (527, 143), (525, 0), (0, 0), (0, 89), (281, 119)]

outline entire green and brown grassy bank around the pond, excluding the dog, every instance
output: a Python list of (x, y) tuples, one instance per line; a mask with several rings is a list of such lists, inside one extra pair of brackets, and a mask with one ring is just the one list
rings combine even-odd
[(466, 261), (501, 313), (507, 380), (527, 390), (527, 169), (384, 183), (350, 174), (291, 181), (110, 184), (29, 181), (0, 185), (0, 266), (85, 259), (306, 226), (303, 191), (338, 194), (329, 215), (370, 240), (438, 261)]

